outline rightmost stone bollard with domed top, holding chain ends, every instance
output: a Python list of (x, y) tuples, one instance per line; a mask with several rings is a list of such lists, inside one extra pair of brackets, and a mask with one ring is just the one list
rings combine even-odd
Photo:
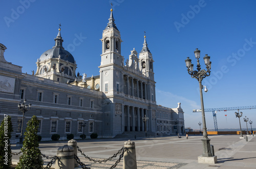
[(137, 169), (135, 142), (125, 141), (124, 147), (127, 150), (123, 154), (123, 169)]

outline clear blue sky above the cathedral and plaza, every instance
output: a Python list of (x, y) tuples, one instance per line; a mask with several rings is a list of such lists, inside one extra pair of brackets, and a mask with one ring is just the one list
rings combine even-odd
[[(192, 112), (201, 107), (199, 84), (188, 75), (184, 61), (190, 57), (196, 65), (196, 48), (201, 50), (202, 68), (205, 54), (212, 62), (211, 75), (203, 80), (208, 88), (203, 93), (205, 108), (256, 106), (255, 1), (4, 1), (0, 43), (7, 47), (5, 59), (31, 74), (37, 58), (54, 46), (61, 23), (63, 46), (74, 56), (77, 71), (99, 75), (99, 39), (111, 2), (123, 40), (122, 56), (126, 60), (134, 47), (140, 52), (146, 31), (155, 61), (157, 104), (176, 108), (180, 102), (185, 127), (199, 129), (202, 122), (201, 113)], [(76, 38), (80, 43), (74, 45)], [(242, 111), (255, 122), (256, 109)], [(214, 129), (212, 112), (205, 116), (207, 128)], [(217, 122), (218, 128), (239, 128), (234, 111), (218, 112)], [(244, 122), (242, 127), (246, 127)]]

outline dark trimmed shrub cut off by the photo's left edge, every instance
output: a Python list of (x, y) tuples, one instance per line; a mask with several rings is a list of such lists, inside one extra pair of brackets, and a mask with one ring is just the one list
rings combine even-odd
[[(0, 166), (3, 168), (11, 168), (12, 154), (11, 154), (11, 133), (13, 132), (11, 116), (4, 115), (4, 119), (0, 126)], [(5, 139), (4, 137), (8, 137)], [(8, 144), (7, 147), (6, 144)], [(6, 156), (7, 153), (7, 157)], [(2, 168), (0, 167), (0, 168)]]

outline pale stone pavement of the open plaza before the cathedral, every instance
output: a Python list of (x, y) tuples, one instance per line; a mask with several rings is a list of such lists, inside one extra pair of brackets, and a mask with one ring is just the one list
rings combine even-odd
[[(138, 168), (256, 168), (256, 136), (249, 136), (248, 141), (240, 139), (240, 135), (209, 135), (210, 144), (214, 145), (216, 164), (198, 163), (198, 156), (202, 155), (202, 135), (155, 137), (155, 138), (130, 138), (135, 142)], [(125, 139), (86, 139), (78, 140), (77, 145), (84, 154), (93, 159), (105, 159), (113, 156), (123, 147)], [(57, 149), (65, 141), (45, 141), (40, 143), (42, 154), (55, 156)], [(19, 149), (12, 147), (13, 152)], [(13, 163), (18, 162), (18, 156), (13, 155)], [(94, 163), (78, 153), (80, 160), (91, 168), (110, 168), (118, 159), (106, 163)], [(45, 158), (44, 158), (45, 159)], [(45, 159), (45, 164), (49, 159)], [(123, 161), (116, 168), (122, 168)]]

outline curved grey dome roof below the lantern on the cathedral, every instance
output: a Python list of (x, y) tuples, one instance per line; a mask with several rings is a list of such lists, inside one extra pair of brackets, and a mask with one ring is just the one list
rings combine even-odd
[(50, 59), (50, 58), (58, 58), (60, 55), (61, 60), (69, 61), (71, 63), (75, 63), (74, 57), (66, 51), (65, 49), (61, 47), (53, 47), (53, 49), (50, 49), (40, 56), (40, 61)]

